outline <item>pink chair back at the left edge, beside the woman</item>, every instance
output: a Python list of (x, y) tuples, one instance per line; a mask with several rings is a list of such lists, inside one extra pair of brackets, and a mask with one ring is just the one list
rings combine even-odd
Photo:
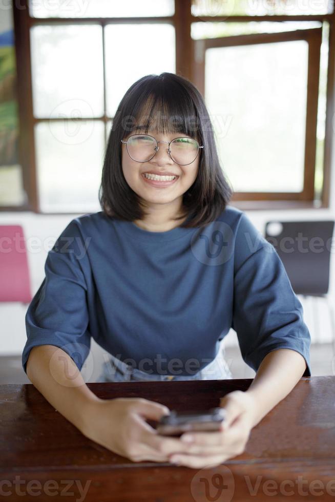
[(0, 302), (30, 303), (31, 299), (22, 226), (0, 225)]

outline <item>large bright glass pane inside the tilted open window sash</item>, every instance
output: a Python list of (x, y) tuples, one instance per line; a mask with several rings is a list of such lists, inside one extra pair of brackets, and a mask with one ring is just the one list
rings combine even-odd
[(305, 40), (206, 51), (205, 99), (235, 191), (302, 191), (307, 57)]

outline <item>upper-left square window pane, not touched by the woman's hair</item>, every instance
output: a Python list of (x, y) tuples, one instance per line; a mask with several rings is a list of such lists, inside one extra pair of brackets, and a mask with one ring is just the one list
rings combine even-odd
[(31, 57), (36, 117), (103, 115), (100, 26), (34, 26)]

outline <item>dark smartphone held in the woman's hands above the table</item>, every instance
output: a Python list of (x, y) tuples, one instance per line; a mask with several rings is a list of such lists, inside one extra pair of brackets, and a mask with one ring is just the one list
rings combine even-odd
[(211, 408), (208, 411), (171, 411), (164, 415), (156, 426), (159, 434), (174, 436), (187, 431), (217, 431), (225, 418), (224, 408)]

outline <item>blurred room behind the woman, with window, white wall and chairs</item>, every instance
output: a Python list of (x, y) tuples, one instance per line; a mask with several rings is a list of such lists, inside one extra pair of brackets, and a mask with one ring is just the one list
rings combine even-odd
[[(306, 233), (309, 261), (297, 268), (295, 250), (282, 258), (310, 329), (312, 374), (334, 374), (334, 23), (328, 0), (0, 0), (0, 383), (29, 382), (28, 303), (65, 226), (100, 211), (121, 97), (164, 71), (204, 96), (231, 205), (263, 235), (269, 222), (270, 236), (288, 232), (295, 245)], [(234, 378), (252, 378), (236, 333), (222, 343)], [(92, 353), (89, 381), (102, 363), (93, 340)]]

